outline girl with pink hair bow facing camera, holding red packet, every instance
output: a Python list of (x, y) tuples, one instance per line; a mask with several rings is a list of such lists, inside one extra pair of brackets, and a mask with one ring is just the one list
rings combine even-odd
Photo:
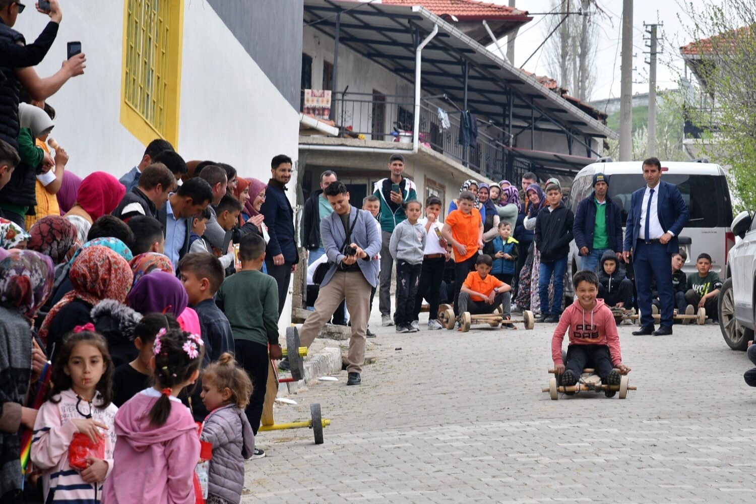
[[(100, 502), (102, 482), (113, 470), (113, 364), (107, 342), (94, 331), (88, 323), (64, 337), (48, 400), (37, 413), (31, 459), (42, 469), (45, 502)], [(77, 456), (82, 445), (94, 447)]]

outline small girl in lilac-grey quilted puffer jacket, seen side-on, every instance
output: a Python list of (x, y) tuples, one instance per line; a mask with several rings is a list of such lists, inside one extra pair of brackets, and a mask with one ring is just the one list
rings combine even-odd
[(212, 444), (207, 504), (237, 504), (244, 487), (244, 460), (255, 453), (255, 435), (244, 408), (252, 380), (225, 352), (202, 373), (202, 402), (210, 412), (200, 434)]

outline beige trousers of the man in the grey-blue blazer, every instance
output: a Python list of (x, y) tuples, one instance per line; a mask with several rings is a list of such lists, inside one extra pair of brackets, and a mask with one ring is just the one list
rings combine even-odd
[(341, 301), (346, 299), (346, 308), (352, 322), (352, 339), (349, 340), (349, 356), (346, 370), (349, 373), (361, 373), (365, 360), (365, 331), (370, 318), (370, 283), (361, 271), (336, 271), (330, 282), (321, 287), (315, 300), (315, 311), (307, 317), (299, 340), (305, 347), (318, 337)]

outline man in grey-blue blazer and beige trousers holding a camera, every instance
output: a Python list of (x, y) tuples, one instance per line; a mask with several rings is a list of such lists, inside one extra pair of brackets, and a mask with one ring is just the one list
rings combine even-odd
[(321, 220), (321, 237), (330, 267), (321, 282), (315, 311), (307, 317), (299, 337), (302, 345), (309, 347), (346, 299), (352, 317), (346, 385), (358, 385), (365, 359), (370, 291), (378, 285), (378, 263), (373, 258), (380, 252), (381, 237), (373, 215), (349, 204), (349, 191), (342, 182), (333, 182), (324, 194), (333, 208), (333, 213)]

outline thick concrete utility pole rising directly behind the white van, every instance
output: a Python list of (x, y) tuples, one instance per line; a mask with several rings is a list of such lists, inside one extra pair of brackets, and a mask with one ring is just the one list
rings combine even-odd
[(619, 160), (633, 159), (633, 0), (622, 0)]

